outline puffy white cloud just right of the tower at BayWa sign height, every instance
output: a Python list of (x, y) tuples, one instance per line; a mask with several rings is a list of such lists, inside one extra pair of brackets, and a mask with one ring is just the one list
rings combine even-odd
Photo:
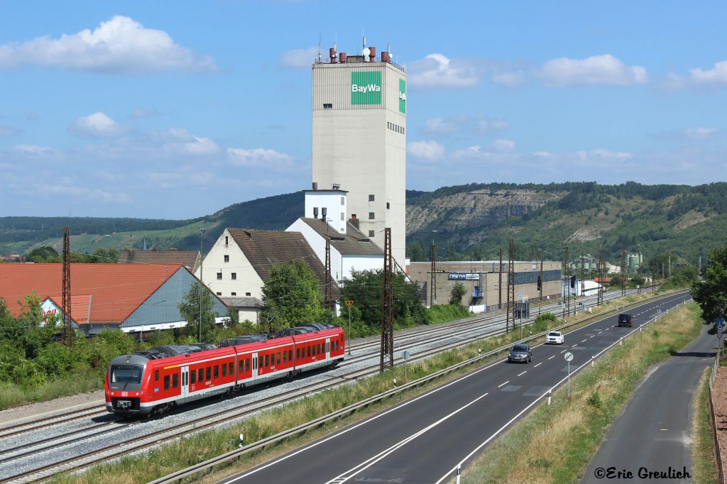
[(473, 87), (479, 84), (482, 71), (477, 62), (467, 59), (449, 59), (441, 54), (430, 54), (411, 62), (409, 84), (415, 87)]

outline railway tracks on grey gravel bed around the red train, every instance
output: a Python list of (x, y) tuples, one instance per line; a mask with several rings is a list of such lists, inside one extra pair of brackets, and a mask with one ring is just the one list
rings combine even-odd
[[(620, 294), (614, 295), (614, 297), (620, 297)], [(593, 298), (593, 300), (595, 301), (595, 297)], [(558, 304), (548, 304), (547, 306), (542, 307), (543, 312), (553, 312), (553, 310), (560, 311), (561, 309), (562, 308)], [(504, 328), (502, 328), (501, 326), (504, 326), (505, 323), (504, 321), (497, 321), (497, 319), (500, 318), (502, 318), (502, 315), (499, 315), (499, 318), (498, 315), (491, 315), (477, 318), (475, 320), (469, 319), (465, 321), (457, 321), (455, 323), (447, 323), (446, 325), (439, 325), (435, 328), (427, 328), (423, 331), (416, 331), (406, 335), (400, 335), (397, 339), (397, 342), (399, 344), (396, 347), (396, 350), (422, 346), (422, 344), (439, 341), (448, 337), (451, 339), (452, 337), (454, 337), (454, 335), (462, 336), (462, 331), (456, 333), (454, 331), (462, 328), (462, 326), (468, 326), (466, 332), (470, 333), (470, 336), (459, 337), (454, 342), (440, 344), (436, 345), (435, 347), (430, 347), (425, 350), (418, 351), (417, 353), (412, 355), (411, 358), (409, 358), (409, 362), (428, 358), (438, 352), (443, 352), (454, 347), (459, 347), (470, 342), (484, 339), (486, 337), (501, 334), (502, 332), (504, 332)], [(447, 335), (447, 333), (454, 334)], [(422, 335), (430, 336), (422, 339)], [(403, 344), (401, 344), (402, 340), (404, 342)], [(378, 344), (378, 342), (364, 342), (354, 345), (352, 349), (355, 349), (356, 352), (365, 352), (366, 350), (377, 348)], [(261, 397), (255, 401), (244, 403), (242, 406), (214, 411), (212, 414), (200, 416), (192, 420), (185, 419), (185, 422), (172, 424), (171, 426), (167, 426), (164, 429), (158, 429), (142, 436), (134, 436), (126, 440), (121, 438), (113, 440), (113, 443), (110, 443), (109, 445), (101, 445), (100, 447), (95, 446), (92, 450), (89, 451), (73, 452), (73, 455), (68, 456), (65, 459), (60, 459), (59, 461), (48, 463), (34, 469), (28, 469), (24, 472), (18, 472), (13, 475), (4, 475), (0, 478), (0, 483), (10, 481), (33, 482), (36, 480), (47, 479), (48, 477), (51, 477), (52, 475), (60, 472), (68, 472), (75, 469), (89, 467), (90, 465), (96, 464), (97, 462), (114, 459), (126, 453), (150, 448), (160, 443), (164, 443), (166, 441), (188, 435), (192, 432), (197, 432), (200, 429), (207, 429), (209, 427), (214, 427), (221, 424), (229, 424), (230, 420), (244, 418), (245, 416), (249, 416), (249, 414), (260, 411), (263, 408), (270, 408), (271, 405), (286, 403), (291, 400), (301, 398), (302, 396), (310, 395), (310, 393), (312, 392), (320, 392), (322, 390), (326, 390), (327, 388), (337, 386), (339, 384), (342, 384), (343, 382), (350, 382), (354, 379), (359, 379), (365, 376), (369, 376), (371, 374), (376, 374), (379, 371), (378, 360), (376, 358), (376, 361), (374, 361), (374, 358), (372, 358), (372, 356), (373, 352), (368, 352), (368, 354), (349, 357), (341, 365), (353, 366), (356, 363), (361, 363), (362, 361), (371, 359), (371, 364), (369, 364), (365, 368), (360, 368), (340, 375), (328, 376), (326, 374), (326, 378), (321, 382), (315, 382), (297, 389), (280, 392), (273, 398)], [(395, 364), (399, 364), (401, 362), (401, 358), (395, 358), (394, 360)], [(38, 421), (14, 424), (12, 426), (0, 429), (0, 441), (4, 440), (5, 437), (17, 436), (19, 434), (22, 434), (23, 432), (34, 432), (41, 428), (47, 429), (47, 426), (49, 425), (52, 426), (68, 423), (74, 420), (84, 419), (85, 417), (101, 414), (106, 414), (105, 408), (103, 407), (101, 407), (100, 409), (83, 408), (65, 414), (45, 417), (44, 419)], [(0, 469), (2, 464), (7, 463), (8, 461), (21, 459), (23, 457), (31, 455), (41, 455), (41, 453), (50, 450), (54, 451), (54, 453), (57, 453), (57, 451), (59, 451), (59, 449), (61, 448), (68, 448), (74, 443), (81, 443), (84, 441), (93, 440), (94, 437), (100, 437), (101, 435), (105, 437), (104, 440), (109, 440), (110, 435), (120, 435), (125, 433), (125, 430), (133, 429), (135, 425), (141, 425), (140, 422), (129, 423), (126, 421), (124, 421), (126, 423), (119, 424), (119, 422), (122, 420), (123, 419), (114, 419), (111, 422), (101, 422), (90, 427), (85, 427), (83, 429), (75, 429), (69, 432), (63, 432), (60, 435), (44, 437), (40, 440), (36, 439), (30, 445), (15, 445), (9, 448), (4, 448), (2, 449), (2, 457), (0, 457)]]

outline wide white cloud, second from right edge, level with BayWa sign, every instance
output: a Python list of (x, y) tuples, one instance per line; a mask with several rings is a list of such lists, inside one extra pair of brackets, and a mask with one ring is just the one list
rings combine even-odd
[(606, 84), (627, 86), (644, 84), (646, 69), (640, 65), (627, 66), (613, 55), (594, 55), (586, 59), (559, 57), (545, 62), (537, 76), (553, 86)]

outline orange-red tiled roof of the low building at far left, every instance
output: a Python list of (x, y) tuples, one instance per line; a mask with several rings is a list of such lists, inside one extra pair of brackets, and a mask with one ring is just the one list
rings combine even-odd
[[(88, 323), (121, 323), (167, 279), (182, 267), (179, 264), (71, 264), (71, 317)], [(52, 297), (59, 304), (63, 294), (62, 264), (0, 264), (0, 298), (13, 315), (20, 315), (18, 300), (32, 291), (43, 302)], [(90, 297), (88, 306), (76, 304)], [(75, 299), (75, 301), (74, 301)], [(82, 306), (83, 303), (79, 304)]]

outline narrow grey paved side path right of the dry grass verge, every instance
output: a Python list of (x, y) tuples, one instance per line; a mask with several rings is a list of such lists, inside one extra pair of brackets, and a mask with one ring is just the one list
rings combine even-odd
[[(601, 443), (582, 483), (693, 482), (692, 397), (718, 346), (717, 337), (707, 334), (707, 328), (682, 352), (646, 376)], [(670, 467), (672, 473), (668, 474)], [(643, 468), (667, 472), (668, 477), (640, 478), (640, 468), (642, 472)], [(691, 477), (678, 475), (685, 468)], [(609, 470), (614, 477), (602, 477), (603, 471)]]

